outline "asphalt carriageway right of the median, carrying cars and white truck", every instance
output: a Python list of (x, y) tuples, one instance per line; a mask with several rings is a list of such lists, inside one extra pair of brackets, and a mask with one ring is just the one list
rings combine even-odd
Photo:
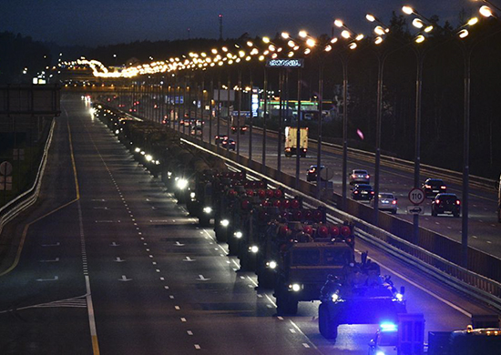
[[(213, 120), (212, 136), (217, 134), (217, 124)], [(209, 126), (209, 125), (207, 125)], [(182, 129), (182, 128), (181, 128)], [(186, 130), (188, 133), (188, 130)], [(220, 133), (227, 134), (226, 121), (220, 120)], [(209, 127), (204, 129), (204, 139), (209, 139)], [(249, 157), (249, 133), (237, 135), (230, 133), (230, 138), (240, 139), (240, 154)], [(316, 137), (312, 137), (316, 138)], [(252, 158), (258, 162), (262, 161), (262, 131), (254, 129), (252, 135)], [(211, 139), (213, 142), (213, 137)], [(266, 165), (269, 167), (278, 166), (278, 146), (277, 138), (274, 134), (268, 134), (266, 138)], [(283, 154), (283, 144), (281, 144), (281, 170), (289, 175), (296, 174), (296, 157), (285, 157)], [(460, 152), (458, 153), (460, 154)], [(307, 157), (300, 160), (300, 178), (306, 180), (307, 170), (311, 165), (317, 164), (317, 147), (311, 145), (308, 149)], [(343, 187), (343, 158), (336, 150), (322, 146), (322, 165), (333, 170), (334, 176), (332, 183), (334, 192), (341, 194)], [(374, 163), (373, 161), (362, 160), (359, 158), (348, 157), (347, 160), (348, 173), (353, 169), (365, 169), (371, 175), (371, 184), (373, 184)], [(421, 174), (422, 182), (428, 178)], [(430, 176), (433, 177), (433, 176)], [(348, 180), (347, 180), (348, 181)], [(462, 187), (447, 181), (445, 184), (448, 191), (453, 192), (458, 198), (462, 199)], [(408, 194), (411, 188), (414, 188), (414, 173), (403, 171), (396, 167), (381, 167), (380, 192), (392, 192), (398, 198), (398, 211), (396, 218), (402, 218), (412, 223), (413, 216), (406, 212), (407, 206), (411, 206), (408, 200)], [(350, 186), (348, 185), (347, 197), (351, 198)], [(496, 194), (487, 192), (475, 187), (470, 187), (469, 200), (469, 218), (468, 218), (468, 236), (469, 246), (482, 250), (488, 254), (501, 258), (501, 224), (497, 222), (496, 210)], [(452, 215), (439, 215), (432, 217), (431, 215), (431, 198), (426, 198), (424, 201), (424, 215), (420, 216), (420, 227), (433, 230), (437, 233), (445, 235), (448, 238), (453, 238), (461, 242), (461, 218), (454, 218)], [(367, 202), (360, 202), (368, 204)]]

